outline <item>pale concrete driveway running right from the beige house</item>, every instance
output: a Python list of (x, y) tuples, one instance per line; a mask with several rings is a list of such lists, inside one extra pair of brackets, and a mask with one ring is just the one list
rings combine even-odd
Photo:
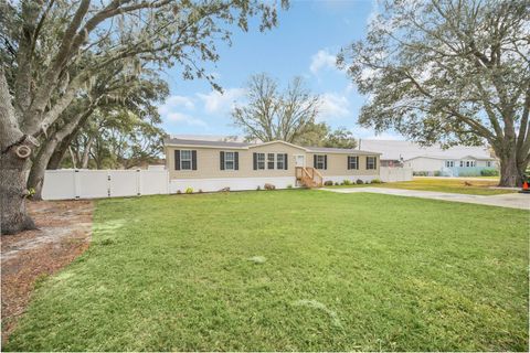
[(468, 194), (454, 194), (448, 192), (437, 191), (420, 191), (420, 190), (405, 190), (405, 189), (388, 189), (388, 188), (351, 188), (351, 189), (320, 189), (325, 191), (338, 192), (338, 193), (356, 193), (356, 192), (370, 192), (377, 194), (407, 196), (407, 197), (421, 197), (444, 200), (454, 202), (476, 203), (481, 205), (521, 208), (530, 210), (530, 194), (500, 194), (500, 195), (468, 195)]

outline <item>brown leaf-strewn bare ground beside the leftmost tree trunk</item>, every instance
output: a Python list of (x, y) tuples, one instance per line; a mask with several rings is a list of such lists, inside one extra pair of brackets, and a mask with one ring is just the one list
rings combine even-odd
[(1, 237), (2, 342), (24, 312), (35, 284), (72, 263), (91, 240), (92, 201), (28, 204), (38, 229)]

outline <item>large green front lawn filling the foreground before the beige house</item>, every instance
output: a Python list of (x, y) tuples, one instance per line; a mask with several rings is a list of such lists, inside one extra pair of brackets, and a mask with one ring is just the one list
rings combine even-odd
[(8, 351), (528, 351), (529, 213), (309, 190), (97, 202)]

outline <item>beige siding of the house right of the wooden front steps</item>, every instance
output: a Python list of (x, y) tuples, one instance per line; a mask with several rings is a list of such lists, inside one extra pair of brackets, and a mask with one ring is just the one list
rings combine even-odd
[(379, 175), (380, 161), (379, 156), (373, 154), (377, 161), (377, 169), (367, 170), (367, 156), (368, 154), (357, 154), (359, 156), (359, 169), (348, 169), (348, 156), (354, 154), (344, 154), (344, 153), (307, 153), (306, 165), (312, 167), (314, 154), (326, 154), (328, 156), (328, 169), (319, 169), (318, 171), (322, 176), (337, 176), (337, 175)]

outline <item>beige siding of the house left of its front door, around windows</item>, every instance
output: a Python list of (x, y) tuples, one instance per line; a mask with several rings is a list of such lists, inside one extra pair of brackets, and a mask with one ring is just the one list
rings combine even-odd
[[(174, 170), (174, 150), (195, 150), (197, 170)], [(239, 152), (239, 170), (221, 170), (220, 152)], [(275, 169), (267, 169), (267, 156), (265, 156), (265, 170), (254, 170), (253, 153), (287, 153), (287, 170), (278, 170), (276, 159)], [(170, 179), (209, 179), (209, 178), (263, 178), (263, 176), (294, 176), (295, 154), (304, 154), (298, 149), (282, 142), (253, 147), (250, 149), (230, 148), (201, 148), (201, 147), (166, 147), (167, 168)]]

